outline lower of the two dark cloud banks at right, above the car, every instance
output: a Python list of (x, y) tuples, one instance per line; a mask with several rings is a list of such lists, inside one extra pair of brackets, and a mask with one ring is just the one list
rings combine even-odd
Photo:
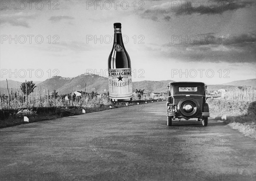
[[(212, 37), (215, 37), (212, 35)], [(185, 40), (163, 45), (148, 45), (147, 51), (164, 58), (175, 58), (183, 62), (229, 62), (255, 63), (256, 35), (239, 34), (215, 37), (216, 41), (189, 43)], [(219, 38), (219, 39), (218, 39)], [(224, 41), (222, 41), (222, 39)]]

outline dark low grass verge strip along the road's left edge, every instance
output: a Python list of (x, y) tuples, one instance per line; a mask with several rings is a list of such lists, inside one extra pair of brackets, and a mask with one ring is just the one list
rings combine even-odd
[[(147, 103), (157, 102), (157, 100), (147, 100)], [(162, 100), (160, 100), (162, 101)], [(143, 104), (146, 101), (131, 101), (128, 106), (133, 106)], [(110, 108), (111, 106), (111, 108)], [(24, 122), (24, 116), (29, 118), (29, 123), (53, 120), (55, 118), (62, 118), (72, 115), (80, 115), (82, 109), (86, 113), (97, 112), (108, 109), (115, 109), (119, 107), (126, 106), (126, 103), (111, 103), (100, 104), (95, 106), (69, 106), (69, 107), (32, 107), (32, 108), (22, 108), (22, 109), (1, 109), (0, 110), (0, 128), (5, 128), (9, 126), (17, 126), (20, 124), (27, 124)]]

